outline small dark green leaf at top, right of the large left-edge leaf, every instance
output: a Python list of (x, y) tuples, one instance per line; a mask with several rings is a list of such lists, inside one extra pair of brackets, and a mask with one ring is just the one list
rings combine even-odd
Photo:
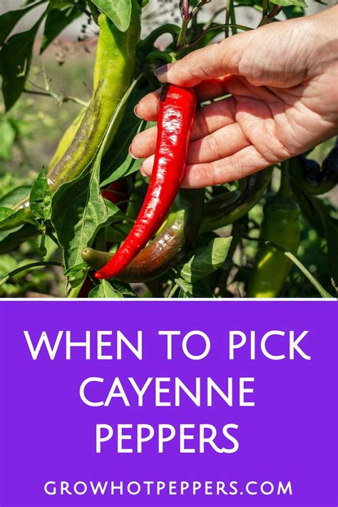
[(75, 6), (64, 6), (51, 9), (46, 17), (45, 29), (41, 42), (40, 54), (45, 51), (49, 44), (75, 19), (81, 16), (82, 12)]

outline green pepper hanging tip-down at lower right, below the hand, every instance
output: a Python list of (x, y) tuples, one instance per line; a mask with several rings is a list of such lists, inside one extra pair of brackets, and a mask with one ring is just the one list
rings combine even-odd
[[(288, 161), (287, 161), (288, 162)], [(263, 208), (260, 245), (247, 288), (247, 297), (277, 297), (292, 267), (292, 261), (274, 245), (297, 254), (299, 206), (290, 190), (289, 170), (282, 167), (282, 185)]]

